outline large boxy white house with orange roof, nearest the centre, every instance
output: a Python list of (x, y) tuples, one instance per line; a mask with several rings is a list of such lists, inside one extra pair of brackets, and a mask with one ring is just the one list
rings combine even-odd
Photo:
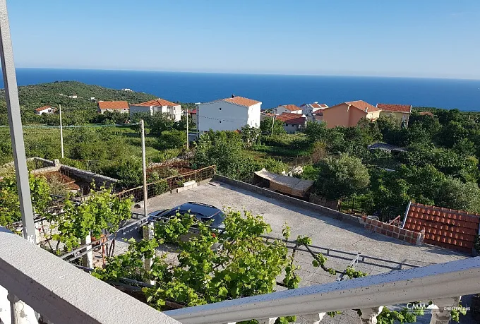
[(260, 127), (262, 102), (232, 95), (230, 98), (197, 104), (197, 128), (200, 132), (236, 131), (245, 125)]

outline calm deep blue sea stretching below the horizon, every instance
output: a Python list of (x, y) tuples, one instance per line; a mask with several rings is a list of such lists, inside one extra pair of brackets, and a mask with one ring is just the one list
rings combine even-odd
[[(333, 105), (365, 100), (373, 105), (384, 102), (480, 111), (480, 80), (54, 68), (18, 68), (17, 80), (18, 85), (77, 80), (107, 88), (131, 88), (181, 102), (207, 102), (234, 94), (260, 100), (263, 109), (279, 104), (318, 101)], [(3, 88), (3, 81), (0, 85)]]

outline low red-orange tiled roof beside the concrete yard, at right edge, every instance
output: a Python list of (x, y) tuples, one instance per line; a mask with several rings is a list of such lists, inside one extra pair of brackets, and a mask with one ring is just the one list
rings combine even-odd
[(424, 230), (427, 244), (472, 253), (479, 224), (479, 214), (411, 203), (404, 229)]

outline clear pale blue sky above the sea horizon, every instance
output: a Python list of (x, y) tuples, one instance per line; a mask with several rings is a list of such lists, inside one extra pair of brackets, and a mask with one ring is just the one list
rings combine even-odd
[(7, 0), (18, 67), (480, 79), (478, 0)]

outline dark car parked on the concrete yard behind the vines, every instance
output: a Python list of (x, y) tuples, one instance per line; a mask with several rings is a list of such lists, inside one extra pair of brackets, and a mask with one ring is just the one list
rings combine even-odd
[(223, 221), (225, 219), (225, 215), (222, 210), (216, 208), (215, 206), (204, 203), (190, 202), (176, 206), (172, 209), (150, 212), (150, 214), (148, 214), (148, 220), (150, 222), (165, 222), (167, 221), (166, 219), (174, 217), (177, 212), (179, 212), (181, 215), (186, 213), (194, 215), (197, 220), (200, 220), (201, 222), (208, 222), (212, 227), (224, 227)]

